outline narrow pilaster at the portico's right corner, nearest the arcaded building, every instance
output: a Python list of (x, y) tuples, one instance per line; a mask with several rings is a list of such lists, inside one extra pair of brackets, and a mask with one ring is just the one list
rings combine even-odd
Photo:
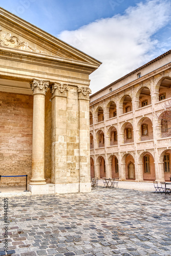
[(78, 87), (79, 100), (79, 171), (80, 192), (90, 192), (90, 119), (89, 119), (89, 94), (88, 87)]

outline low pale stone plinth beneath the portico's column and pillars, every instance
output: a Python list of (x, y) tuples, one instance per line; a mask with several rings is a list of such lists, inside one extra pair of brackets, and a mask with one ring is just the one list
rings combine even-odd
[(29, 191), (32, 195), (47, 194), (69, 194), (69, 193), (89, 193), (91, 183), (67, 183), (67, 184), (29, 184)]

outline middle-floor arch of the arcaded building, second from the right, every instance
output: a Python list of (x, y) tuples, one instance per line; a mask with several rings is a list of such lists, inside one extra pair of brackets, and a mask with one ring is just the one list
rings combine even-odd
[(137, 125), (137, 138), (138, 141), (153, 139), (153, 125), (151, 119), (148, 117), (143, 117), (139, 120)]

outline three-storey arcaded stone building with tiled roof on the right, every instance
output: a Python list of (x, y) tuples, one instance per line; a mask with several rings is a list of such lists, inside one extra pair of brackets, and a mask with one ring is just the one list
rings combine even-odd
[(171, 51), (90, 97), (91, 176), (169, 181)]

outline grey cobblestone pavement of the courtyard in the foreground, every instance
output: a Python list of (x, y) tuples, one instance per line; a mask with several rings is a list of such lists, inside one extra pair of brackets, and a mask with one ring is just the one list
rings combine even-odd
[[(0, 255), (5, 255), (1, 200)], [(8, 253), (170, 256), (170, 203), (169, 195), (120, 188), (9, 198)]]

